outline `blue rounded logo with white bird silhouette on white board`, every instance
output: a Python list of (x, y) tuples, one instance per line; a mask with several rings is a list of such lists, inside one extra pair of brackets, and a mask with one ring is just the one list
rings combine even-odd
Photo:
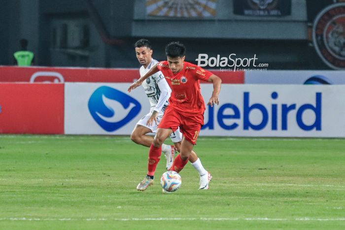
[(102, 86), (90, 97), (89, 111), (105, 131), (115, 131), (135, 118), (141, 110), (138, 100), (127, 94)]

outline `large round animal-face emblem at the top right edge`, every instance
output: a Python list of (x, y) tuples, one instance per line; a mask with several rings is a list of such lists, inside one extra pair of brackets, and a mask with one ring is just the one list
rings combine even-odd
[(345, 69), (345, 3), (332, 4), (316, 16), (312, 39), (327, 66)]

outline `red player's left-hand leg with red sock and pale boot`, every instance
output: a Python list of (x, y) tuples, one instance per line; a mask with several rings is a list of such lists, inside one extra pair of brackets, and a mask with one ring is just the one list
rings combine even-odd
[(150, 146), (148, 153), (147, 174), (145, 178), (138, 184), (137, 190), (144, 191), (148, 186), (153, 184), (154, 174), (157, 164), (161, 159), (162, 144), (165, 139), (172, 133), (172, 129), (158, 129), (157, 134)]

